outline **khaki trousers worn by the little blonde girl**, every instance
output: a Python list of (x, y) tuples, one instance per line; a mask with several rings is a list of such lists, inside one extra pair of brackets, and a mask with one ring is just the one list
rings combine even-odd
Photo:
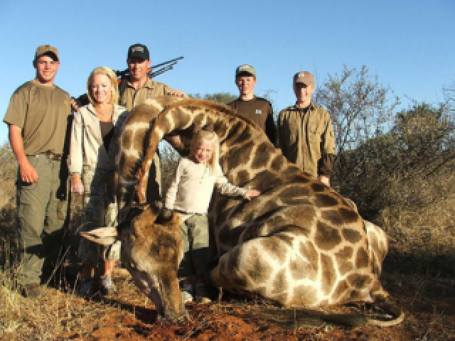
[(203, 278), (208, 271), (208, 219), (207, 215), (188, 215), (180, 224), (183, 232), (183, 259), (178, 277)]

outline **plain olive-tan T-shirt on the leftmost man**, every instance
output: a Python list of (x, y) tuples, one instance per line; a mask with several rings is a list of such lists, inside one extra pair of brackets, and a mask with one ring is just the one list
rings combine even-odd
[(26, 155), (62, 155), (71, 117), (67, 92), (55, 85), (49, 87), (31, 80), (11, 96), (4, 122), (22, 129)]

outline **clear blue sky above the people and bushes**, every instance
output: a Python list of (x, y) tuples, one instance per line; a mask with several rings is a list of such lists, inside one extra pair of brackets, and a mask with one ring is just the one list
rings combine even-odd
[(455, 81), (454, 17), (453, 0), (0, 0), (0, 112), (35, 76), (33, 55), (47, 43), (60, 53), (55, 84), (73, 96), (93, 68), (126, 68), (127, 48), (140, 42), (152, 64), (184, 56), (156, 80), (190, 94), (237, 94), (235, 67), (249, 63), (256, 94), (272, 90), (282, 109), (294, 103), (295, 72), (321, 83), (346, 64), (366, 65), (399, 97), (437, 104)]

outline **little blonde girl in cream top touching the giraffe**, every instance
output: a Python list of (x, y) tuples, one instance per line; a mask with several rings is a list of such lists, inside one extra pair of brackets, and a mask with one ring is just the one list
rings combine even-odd
[(208, 220), (207, 210), (216, 186), (221, 194), (241, 195), (250, 200), (258, 190), (247, 190), (228, 183), (218, 158), (220, 142), (213, 131), (200, 130), (191, 141), (189, 158), (178, 162), (173, 180), (166, 193), (165, 206), (182, 215), (185, 255), (178, 269), (178, 276), (196, 276), (196, 296), (208, 301), (203, 288), (203, 276), (208, 272)]

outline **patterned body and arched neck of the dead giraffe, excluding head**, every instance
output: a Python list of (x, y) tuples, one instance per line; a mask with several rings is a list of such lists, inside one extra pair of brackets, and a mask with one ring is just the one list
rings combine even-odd
[[(220, 260), (210, 278), (216, 286), (259, 293), (284, 306), (387, 298), (379, 281), (387, 236), (379, 227), (365, 223), (338, 193), (289, 163), (252, 122), (213, 102), (175, 101), (157, 97), (132, 112), (121, 137), (120, 179), (131, 186), (138, 174), (137, 195), (145, 202), (151, 156), (159, 141), (172, 134), (188, 135), (194, 124), (213, 124), (228, 180), (262, 193), (252, 201), (213, 197), (209, 220)], [(138, 131), (134, 126), (143, 129), (150, 121), (132, 122), (158, 114), (150, 133), (141, 133), (143, 139), (134, 142), (136, 158), (129, 158), (127, 147)], [(171, 141), (178, 150), (186, 143), (183, 138)], [(131, 195), (125, 200), (128, 193), (131, 190), (124, 191), (122, 202), (131, 200)], [(401, 314), (389, 324), (403, 318)]]

